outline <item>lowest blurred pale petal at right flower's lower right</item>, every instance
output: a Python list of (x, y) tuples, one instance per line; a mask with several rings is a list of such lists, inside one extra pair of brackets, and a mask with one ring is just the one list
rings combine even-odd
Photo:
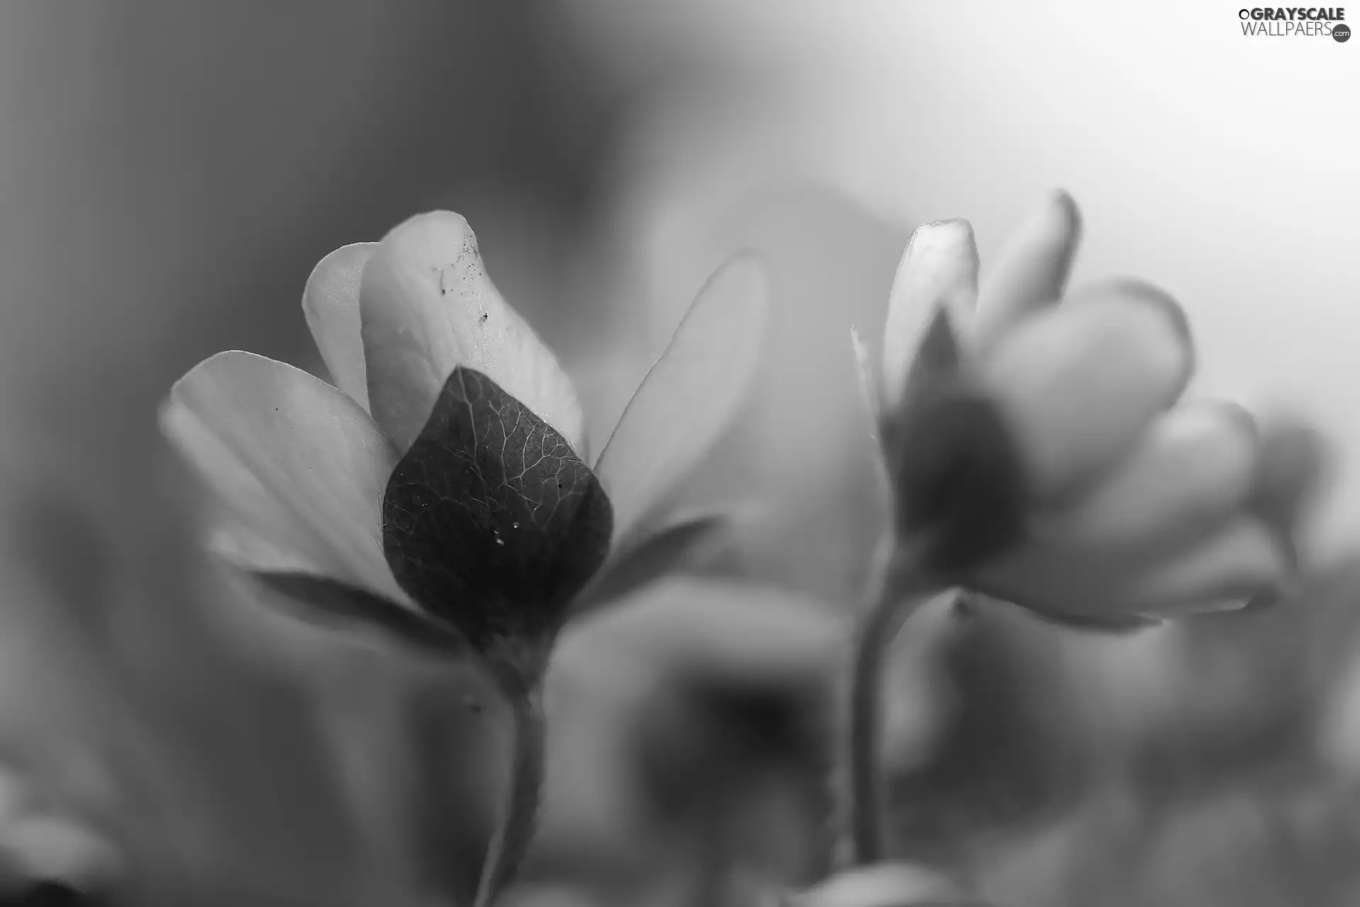
[(1175, 616), (1236, 608), (1289, 579), (1285, 552), (1270, 529), (1243, 517), (1129, 587), (1138, 613)]

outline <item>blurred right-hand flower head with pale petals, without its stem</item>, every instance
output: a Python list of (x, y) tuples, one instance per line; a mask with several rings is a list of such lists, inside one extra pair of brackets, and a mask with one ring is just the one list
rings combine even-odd
[(877, 381), (855, 339), (898, 533), (951, 585), (1069, 624), (1133, 628), (1281, 592), (1318, 439), (1180, 403), (1183, 311), (1137, 280), (1065, 295), (1078, 234), (1058, 193), (981, 287), (966, 222), (913, 234)]

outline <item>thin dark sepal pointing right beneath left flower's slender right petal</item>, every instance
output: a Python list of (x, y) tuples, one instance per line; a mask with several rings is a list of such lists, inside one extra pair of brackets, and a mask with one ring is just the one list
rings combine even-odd
[(702, 567), (728, 541), (732, 524), (733, 514), (726, 511), (680, 517), (620, 549), (577, 597), (573, 615), (590, 613), (619, 601), (666, 574)]

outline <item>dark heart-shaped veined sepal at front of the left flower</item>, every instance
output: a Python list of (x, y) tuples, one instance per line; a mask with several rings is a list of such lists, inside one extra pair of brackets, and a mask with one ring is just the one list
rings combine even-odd
[(461, 366), (382, 502), (397, 582), (484, 653), (556, 632), (604, 562), (612, 522), (609, 499), (567, 441)]

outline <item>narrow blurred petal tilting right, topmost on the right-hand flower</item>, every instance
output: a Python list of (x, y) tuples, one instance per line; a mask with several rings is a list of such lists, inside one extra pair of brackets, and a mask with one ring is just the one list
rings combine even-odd
[(974, 341), (996, 343), (1025, 315), (1057, 302), (1081, 241), (1081, 212), (1055, 192), (989, 262), (978, 292)]

